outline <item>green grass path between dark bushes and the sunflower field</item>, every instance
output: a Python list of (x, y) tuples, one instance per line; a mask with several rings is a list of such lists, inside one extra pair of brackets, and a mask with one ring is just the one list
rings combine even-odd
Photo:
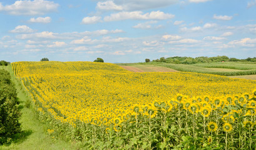
[[(25, 107), (28, 96), (24, 92), (21, 84), (15, 78), (11, 71), (11, 66), (1, 68), (8, 70), (11, 73), (12, 80), (16, 84), (18, 98), (20, 101), (19, 108), (21, 109), (22, 116), (19, 119), (21, 123), (22, 133), (13, 138), (11, 144), (0, 146), (0, 149), (78, 149), (72, 144), (53, 138), (47, 133), (48, 126), (41, 123), (36, 116), (33, 108)], [(1, 69), (0, 68), (0, 69)]]

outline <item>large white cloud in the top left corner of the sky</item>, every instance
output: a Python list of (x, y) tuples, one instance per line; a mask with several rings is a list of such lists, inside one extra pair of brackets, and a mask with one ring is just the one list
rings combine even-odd
[(16, 1), (14, 4), (3, 6), (0, 3), (0, 11), (8, 12), (12, 15), (43, 15), (48, 12), (57, 11), (59, 4), (52, 1), (44, 0), (26, 0), (26, 1)]

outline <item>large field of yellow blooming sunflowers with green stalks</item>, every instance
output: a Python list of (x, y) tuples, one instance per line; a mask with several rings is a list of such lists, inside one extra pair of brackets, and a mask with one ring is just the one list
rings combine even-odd
[(48, 134), (83, 149), (256, 149), (255, 81), (110, 63), (12, 67)]

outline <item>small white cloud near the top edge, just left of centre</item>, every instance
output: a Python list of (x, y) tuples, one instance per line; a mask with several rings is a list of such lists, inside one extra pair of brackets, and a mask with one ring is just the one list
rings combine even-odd
[(118, 6), (113, 1), (105, 1), (105, 2), (98, 2), (96, 9), (101, 9), (105, 11), (121, 11), (123, 10), (122, 6)]

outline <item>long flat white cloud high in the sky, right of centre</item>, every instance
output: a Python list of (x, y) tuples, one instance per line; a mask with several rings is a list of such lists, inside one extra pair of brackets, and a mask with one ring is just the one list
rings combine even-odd
[(143, 14), (142, 11), (132, 11), (132, 12), (118, 12), (115, 14), (110, 14), (110, 16), (104, 17), (104, 21), (120, 21), (125, 19), (135, 19), (135, 20), (164, 20), (172, 19), (173, 14), (168, 14), (161, 11), (151, 11), (150, 13)]

